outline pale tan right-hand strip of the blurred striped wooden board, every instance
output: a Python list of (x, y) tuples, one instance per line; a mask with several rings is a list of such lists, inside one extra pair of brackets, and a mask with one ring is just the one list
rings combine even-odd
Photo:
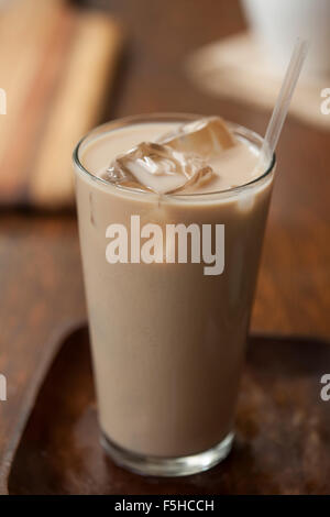
[(66, 72), (31, 167), (29, 200), (33, 206), (61, 208), (73, 204), (72, 152), (100, 118), (114, 80), (121, 40), (121, 29), (109, 16), (88, 11), (79, 14)]

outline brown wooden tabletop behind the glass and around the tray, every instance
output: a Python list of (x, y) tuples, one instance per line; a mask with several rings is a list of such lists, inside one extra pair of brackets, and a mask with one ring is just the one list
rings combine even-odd
[[(190, 51), (244, 28), (238, 1), (98, 3), (122, 20), (129, 36), (105, 119), (150, 111), (221, 113), (264, 132), (270, 113), (207, 97), (184, 74)], [(330, 337), (329, 139), (294, 119), (286, 123), (253, 330)], [(1, 212), (0, 288), (0, 372), (8, 378), (8, 402), (0, 403), (1, 477), (56, 337), (85, 317), (75, 216)], [(319, 375), (326, 372), (330, 364)]]

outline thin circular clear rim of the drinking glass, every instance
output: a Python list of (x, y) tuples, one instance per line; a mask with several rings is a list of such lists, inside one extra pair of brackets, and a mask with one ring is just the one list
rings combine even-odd
[[(157, 196), (156, 193), (153, 191), (147, 191), (147, 190), (139, 190), (134, 188), (129, 188), (129, 187), (123, 187), (123, 186), (118, 186), (118, 185), (112, 185), (111, 183), (107, 182), (107, 179), (103, 179), (92, 172), (88, 170), (81, 163), (80, 157), (79, 157), (79, 152), (81, 150), (81, 146), (89, 140), (92, 139), (94, 136), (97, 138), (98, 135), (110, 133), (111, 131), (119, 130), (121, 128), (124, 128), (127, 125), (131, 124), (139, 124), (143, 122), (185, 122), (185, 121), (194, 121), (200, 118), (206, 118), (209, 116), (200, 116), (200, 114), (194, 114), (194, 113), (145, 113), (145, 114), (133, 114), (133, 116), (128, 116), (123, 117), (121, 119), (114, 119), (109, 122), (105, 122), (102, 124), (97, 125), (92, 130), (90, 130), (88, 133), (86, 133), (77, 143), (77, 145), (74, 148), (73, 153), (73, 162), (74, 165), (78, 168), (80, 173), (84, 175), (87, 175), (90, 179), (94, 182), (100, 183), (102, 186), (106, 186), (110, 188), (112, 191), (119, 191), (121, 194), (130, 194), (133, 197), (154, 197)], [(229, 122), (226, 121), (228, 125), (235, 132), (241, 132), (243, 133), (242, 136), (245, 136), (249, 140), (253, 138), (260, 143), (260, 146), (262, 146), (264, 139), (256, 132), (250, 130), (249, 128), (245, 128), (244, 125), (237, 124), (234, 122)], [(253, 143), (253, 142), (252, 142)], [(255, 142), (254, 142), (255, 143)], [(237, 194), (240, 193), (241, 190), (244, 190), (246, 187), (254, 186), (258, 183), (261, 183), (263, 179), (265, 179), (275, 168), (276, 165), (276, 154), (273, 153), (270, 164), (266, 167), (266, 169), (256, 178), (252, 179), (251, 182), (248, 182), (242, 185), (238, 185), (235, 187), (222, 189), (222, 190), (217, 190), (213, 193), (188, 193), (188, 194), (163, 194), (162, 197), (164, 199), (173, 199), (175, 201), (187, 201), (187, 200), (193, 200), (194, 198), (197, 198), (200, 200), (201, 198), (215, 198), (216, 196), (219, 195), (231, 195), (231, 194)]]

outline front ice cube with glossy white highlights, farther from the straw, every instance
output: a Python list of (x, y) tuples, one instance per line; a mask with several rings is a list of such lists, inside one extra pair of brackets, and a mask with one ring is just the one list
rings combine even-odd
[(142, 142), (114, 160), (106, 178), (124, 187), (169, 194), (212, 174), (212, 168), (198, 156), (186, 155), (168, 145)]

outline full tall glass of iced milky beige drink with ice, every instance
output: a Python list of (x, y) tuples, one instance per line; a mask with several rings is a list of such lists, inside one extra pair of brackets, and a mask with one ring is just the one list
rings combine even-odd
[(274, 157), (220, 118), (102, 125), (74, 160), (102, 442), (140, 473), (222, 460)]

